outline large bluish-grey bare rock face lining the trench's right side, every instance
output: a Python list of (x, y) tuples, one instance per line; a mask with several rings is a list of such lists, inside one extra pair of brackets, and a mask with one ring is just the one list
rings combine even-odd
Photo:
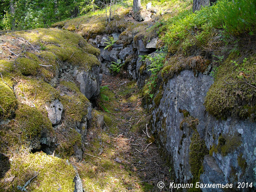
[[(182, 183), (188, 183), (193, 178), (189, 165), (189, 146), (193, 130), (185, 123), (183, 130), (180, 122), (184, 116), (179, 109), (185, 109), (191, 116), (199, 120), (197, 132), (205, 140), (206, 147), (218, 146), (220, 135), (226, 142), (232, 137), (238, 140), (238, 147), (230, 149), (227, 154), (220, 150), (212, 156), (205, 156), (203, 161), (204, 172), (200, 182), (205, 184), (222, 182), (223, 184), (237, 182), (254, 182), (253, 168), (256, 161), (256, 123), (235, 118), (216, 120), (204, 108), (204, 98), (213, 83), (211, 76), (184, 70), (170, 79), (163, 88), (163, 97), (160, 104), (152, 111), (152, 132), (156, 132), (161, 145), (171, 156), (176, 178)], [(148, 106), (149, 107), (149, 106)], [(182, 142), (181, 142), (182, 140)], [(239, 158), (244, 160), (245, 168), (239, 165)], [(245, 163), (246, 162), (246, 163)], [(223, 191), (202, 189), (204, 192)], [(234, 191), (237, 188), (232, 189)], [(248, 189), (242, 189), (248, 191)]]

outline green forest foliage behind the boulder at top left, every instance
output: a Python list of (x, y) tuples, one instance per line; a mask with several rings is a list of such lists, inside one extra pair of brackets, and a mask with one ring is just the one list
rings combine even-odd
[(94, 0), (1, 0), (0, 4), (0, 29), (5, 30), (46, 28), (53, 22), (74, 18), (98, 7)]

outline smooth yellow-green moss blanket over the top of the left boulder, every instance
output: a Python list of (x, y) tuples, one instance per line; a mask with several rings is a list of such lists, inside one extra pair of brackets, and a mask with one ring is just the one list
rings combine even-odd
[[(56, 28), (38, 28), (29, 31), (17, 31), (13, 35), (21, 36), (33, 44), (42, 45), (41, 48), (43, 47), (47, 52), (52, 52), (57, 59), (68, 61), (74, 66), (90, 69), (92, 66), (100, 64), (95, 57), (100, 54), (100, 50), (88, 44), (83, 37), (72, 32)], [(31, 74), (30, 71), (34, 72), (35, 70), (26, 70), (24, 73), (29, 75), (29, 73)]]

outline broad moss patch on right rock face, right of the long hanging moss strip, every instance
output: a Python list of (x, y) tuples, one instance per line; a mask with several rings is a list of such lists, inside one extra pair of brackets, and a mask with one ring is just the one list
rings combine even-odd
[(241, 137), (238, 134), (222, 136), (218, 139), (217, 149), (221, 155), (226, 156), (228, 153), (234, 152), (241, 145)]

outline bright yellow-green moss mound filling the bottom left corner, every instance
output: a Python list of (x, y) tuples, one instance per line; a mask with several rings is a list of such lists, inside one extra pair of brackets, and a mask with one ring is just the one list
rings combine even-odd
[[(0, 182), (0, 188), (5, 188), (7, 192), (16, 191), (18, 185), (24, 186), (35, 175), (37, 177), (28, 185), (28, 191), (50, 192), (58, 188), (64, 192), (74, 191), (76, 173), (73, 166), (64, 159), (42, 152), (16, 155), (12, 159), (10, 170)], [(12, 182), (4, 182), (5, 178), (11, 176), (15, 176)]]

